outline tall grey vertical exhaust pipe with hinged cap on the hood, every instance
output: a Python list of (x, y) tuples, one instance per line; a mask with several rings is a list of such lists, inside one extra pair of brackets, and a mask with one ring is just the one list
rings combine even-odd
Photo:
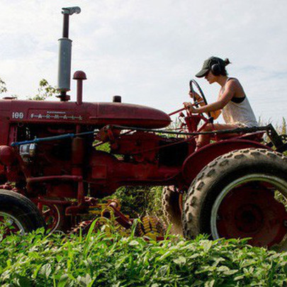
[(72, 60), (72, 40), (69, 39), (69, 16), (79, 14), (79, 7), (62, 8), (63, 33), (59, 39), (59, 62), (58, 62), (58, 84), (57, 89), (60, 91), (60, 101), (69, 101), (67, 91), (70, 90), (71, 83), (71, 60)]

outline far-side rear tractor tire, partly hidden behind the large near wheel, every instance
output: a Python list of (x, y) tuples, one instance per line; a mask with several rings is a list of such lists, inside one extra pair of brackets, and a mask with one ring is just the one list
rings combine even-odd
[(162, 190), (162, 211), (171, 234), (183, 235), (181, 225), (182, 194), (174, 191), (174, 186), (164, 186)]

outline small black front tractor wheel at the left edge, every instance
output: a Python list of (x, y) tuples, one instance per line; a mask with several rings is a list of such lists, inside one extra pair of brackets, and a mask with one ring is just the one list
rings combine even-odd
[(43, 216), (30, 199), (20, 193), (0, 189), (0, 224), (7, 222), (13, 229), (6, 230), (4, 237), (13, 232), (24, 234), (45, 227)]

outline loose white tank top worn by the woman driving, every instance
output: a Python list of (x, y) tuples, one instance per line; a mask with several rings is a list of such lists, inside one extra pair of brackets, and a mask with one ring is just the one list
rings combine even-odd
[[(228, 78), (227, 81), (229, 79), (230, 78)], [(222, 109), (222, 115), (225, 123), (241, 123), (248, 128), (258, 126), (247, 96), (245, 96), (241, 103), (229, 101)]]

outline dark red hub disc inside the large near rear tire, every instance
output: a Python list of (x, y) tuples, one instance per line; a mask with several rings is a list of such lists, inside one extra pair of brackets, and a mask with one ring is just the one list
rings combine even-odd
[(287, 212), (274, 198), (280, 185), (276, 178), (242, 179), (220, 193), (211, 216), (213, 238), (246, 238), (249, 244), (271, 247), (286, 236)]

